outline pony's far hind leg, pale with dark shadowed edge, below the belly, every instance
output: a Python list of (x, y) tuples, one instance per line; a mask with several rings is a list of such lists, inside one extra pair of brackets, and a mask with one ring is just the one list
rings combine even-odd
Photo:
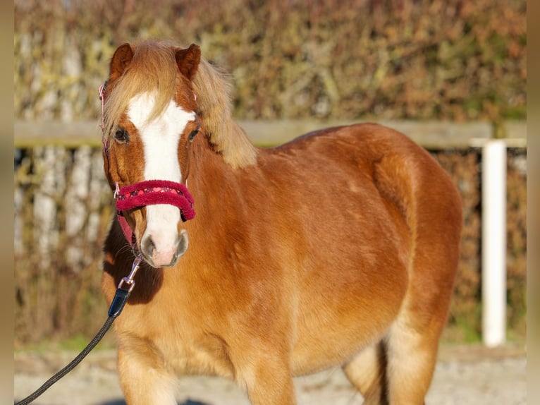
[(362, 349), (352, 360), (343, 365), (343, 371), (350, 383), (364, 397), (364, 405), (388, 405), (384, 341)]

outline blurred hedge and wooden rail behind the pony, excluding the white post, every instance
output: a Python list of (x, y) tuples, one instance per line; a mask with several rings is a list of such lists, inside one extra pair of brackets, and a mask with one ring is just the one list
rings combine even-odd
[[(508, 339), (523, 342), (525, 16), (525, 0), (16, 0), (16, 349), (81, 346), (106, 318), (101, 244), (114, 211), (97, 89), (116, 47), (149, 37), (195, 42), (230, 73), (235, 117), (260, 145), (380, 121), (427, 147), (465, 212), (445, 341), (481, 339), (478, 146), (508, 140), (505, 316)], [(281, 132), (258, 138), (264, 128)]]

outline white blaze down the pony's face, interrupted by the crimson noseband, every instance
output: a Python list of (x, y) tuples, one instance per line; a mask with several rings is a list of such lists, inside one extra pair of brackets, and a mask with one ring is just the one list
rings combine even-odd
[[(155, 104), (152, 93), (142, 93), (131, 99), (128, 118), (137, 128), (144, 146), (145, 180), (168, 180), (180, 183), (182, 173), (178, 163), (178, 143), (185, 126), (195, 119), (195, 112), (178, 107), (174, 100), (168, 104), (163, 114), (149, 121)], [(176, 249), (178, 238), (177, 224), (180, 210), (173, 205), (149, 205), (147, 210), (147, 229), (157, 252)]]

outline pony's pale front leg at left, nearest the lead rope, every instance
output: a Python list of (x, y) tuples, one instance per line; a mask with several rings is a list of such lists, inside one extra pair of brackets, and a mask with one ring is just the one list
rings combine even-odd
[(176, 379), (139, 354), (118, 349), (118, 378), (127, 405), (177, 405)]

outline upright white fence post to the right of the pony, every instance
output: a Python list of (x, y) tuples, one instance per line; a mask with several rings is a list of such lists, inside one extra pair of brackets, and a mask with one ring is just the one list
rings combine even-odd
[(482, 340), (506, 340), (506, 143), (482, 149)]

